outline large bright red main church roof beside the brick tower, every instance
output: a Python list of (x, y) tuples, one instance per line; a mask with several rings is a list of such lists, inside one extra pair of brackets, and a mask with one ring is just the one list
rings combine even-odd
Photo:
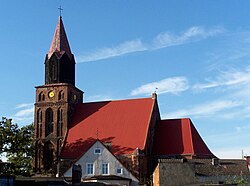
[(79, 158), (96, 138), (112, 143), (115, 155), (143, 149), (154, 103), (144, 98), (77, 105), (61, 157)]

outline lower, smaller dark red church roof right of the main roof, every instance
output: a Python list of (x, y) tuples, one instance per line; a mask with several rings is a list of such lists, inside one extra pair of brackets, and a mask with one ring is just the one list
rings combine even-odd
[(215, 157), (189, 118), (159, 121), (156, 124), (153, 154)]

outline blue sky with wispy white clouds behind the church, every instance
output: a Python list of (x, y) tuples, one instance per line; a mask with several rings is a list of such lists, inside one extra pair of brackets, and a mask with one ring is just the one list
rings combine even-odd
[(0, 116), (33, 121), (60, 5), (84, 101), (158, 88), (162, 118), (190, 117), (221, 158), (250, 154), (247, 0), (3, 1)]

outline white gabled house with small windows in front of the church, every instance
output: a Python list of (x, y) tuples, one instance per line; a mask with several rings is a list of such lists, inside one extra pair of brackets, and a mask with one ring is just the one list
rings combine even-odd
[[(139, 180), (127, 170), (111, 151), (99, 140), (75, 164), (82, 167), (82, 181), (96, 181), (121, 186), (138, 185)], [(72, 176), (72, 167), (64, 177)]]

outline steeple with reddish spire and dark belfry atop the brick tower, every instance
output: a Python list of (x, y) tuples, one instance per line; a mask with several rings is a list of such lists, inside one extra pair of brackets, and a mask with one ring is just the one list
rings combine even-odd
[(45, 59), (45, 84), (55, 83), (69, 83), (75, 86), (75, 59), (61, 16)]

